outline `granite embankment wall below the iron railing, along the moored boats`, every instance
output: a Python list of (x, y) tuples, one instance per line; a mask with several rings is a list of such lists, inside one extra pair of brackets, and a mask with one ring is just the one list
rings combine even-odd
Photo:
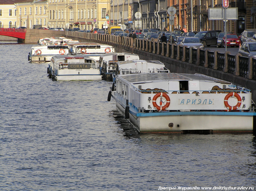
[(237, 76), (231, 73), (222, 72), (220, 70), (214, 70), (200, 65), (195, 65), (188, 62), (182, 62), (180, 60), (172, 59), (170, 57), (161, 56), (160, 54), (154, 54), (147, 51), (131, 48), (130, 46), (124, 46), (113, 42), (100, 41), (95, 39), (86, 39), (77, 36), (68, 36), (65, 31), (51, 31), (51, 30), (36, 30), (28, 29), (26, 33), (25, 43), (37, 43), (39, 38), (46, 38), (51, 36), (65, 36), (73, 40), (79, 40), (81, 42), (98, 42), (105, 43), (116, 47), (117, 52), (130, 52), (140, 56), (141, 59), (145, 60), (159, 60), (163, 62), (171, 72), (173, 73), (200, 73), (221, 80), (230, 81), (233, 84), (241, 87), (245, 87), (252, 90), (252, 99), (256, 102), (256, 81)]

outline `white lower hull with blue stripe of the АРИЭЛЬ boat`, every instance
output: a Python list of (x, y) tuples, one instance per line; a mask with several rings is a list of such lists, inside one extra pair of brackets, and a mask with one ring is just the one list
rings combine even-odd
[[(125, 115), (125, 108), (116, 102)], [(132, 110), (132, 106), (130, 106)], [(140, 133), (182, 134), (209, 130), (212, 133), (252, 133), (254, 115), (251, 112), (154, 112), (136, 113), (130, 110), (128, 121)]]

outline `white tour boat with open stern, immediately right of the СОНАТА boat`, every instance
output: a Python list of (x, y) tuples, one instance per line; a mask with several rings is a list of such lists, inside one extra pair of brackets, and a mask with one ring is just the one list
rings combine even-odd
[(102, 79), (112, 81), (112, 75), (116, 72), (118, 61), (139, 60), (140, 57), (136, 54), (127, 52), (106, 53), (100, 55), (100, 72)]

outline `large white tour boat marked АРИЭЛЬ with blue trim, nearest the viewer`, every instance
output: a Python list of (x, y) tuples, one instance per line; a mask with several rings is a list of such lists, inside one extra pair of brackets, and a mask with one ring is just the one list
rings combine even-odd
[(137, 73), (116, 76), (109, 91), (140, 133), (252, 133), (252, 93), (201, 74)]

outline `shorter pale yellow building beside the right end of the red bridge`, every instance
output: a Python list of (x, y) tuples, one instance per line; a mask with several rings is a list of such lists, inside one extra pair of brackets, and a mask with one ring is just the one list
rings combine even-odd
[(48, 2), (47, 0), (23, 0), (16, 6), (17, 27), (38, 28), (47, 27)]

